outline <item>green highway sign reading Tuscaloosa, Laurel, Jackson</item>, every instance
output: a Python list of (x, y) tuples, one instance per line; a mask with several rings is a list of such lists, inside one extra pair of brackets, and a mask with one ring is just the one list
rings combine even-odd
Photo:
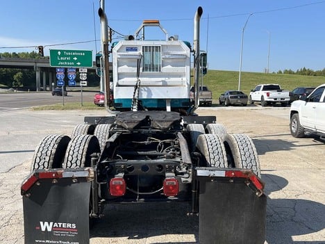
[(50, 49), (51, 67), (92, 67), (92, 51)]

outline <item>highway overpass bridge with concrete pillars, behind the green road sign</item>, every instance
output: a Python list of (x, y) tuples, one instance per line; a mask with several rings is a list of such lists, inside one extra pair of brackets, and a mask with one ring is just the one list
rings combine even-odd
[[(49, 58), (0, 58), (0, 68), (14, 69), (31, 69), (36, 72), (36, 90), (40, 91), (41, 87), (46, 90), (49, 86), (52, 90), (52, 83), (56, 82), (56, 67), (51, 67)], [(96, 64), (93, 62), (92, 67), (88, 70), (96, 72)], [(41, 86), (42, 81), (42, 86)]]

